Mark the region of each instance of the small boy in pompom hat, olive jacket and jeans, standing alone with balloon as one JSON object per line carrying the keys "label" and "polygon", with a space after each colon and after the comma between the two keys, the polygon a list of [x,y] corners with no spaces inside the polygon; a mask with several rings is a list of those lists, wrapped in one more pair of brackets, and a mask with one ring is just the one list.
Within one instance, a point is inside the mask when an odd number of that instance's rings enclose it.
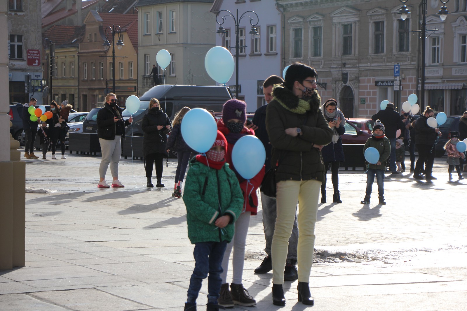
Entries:
{"label": "small boy in pompom hat, olive jacket and jeans, standing alone with balloon", "polygon": [[384,205],[384,171],[386,170],[386,159],[389,158],[391,153],[391,144],[389,138],[384,136],[384,125],[380,120],[376,120],[373,125],[373,136],[368,138],[365,146],[363,147],[363,153],[369,147],[374,147],[378,150],[380,158],[376,164],[368,163],[367,170],[367,192],[365,198],[360,202],[361,204],[370,203],[371,188],[373,187],[373,182],[375,181],[378,184],[378,195],[379,195],[379,204]]}

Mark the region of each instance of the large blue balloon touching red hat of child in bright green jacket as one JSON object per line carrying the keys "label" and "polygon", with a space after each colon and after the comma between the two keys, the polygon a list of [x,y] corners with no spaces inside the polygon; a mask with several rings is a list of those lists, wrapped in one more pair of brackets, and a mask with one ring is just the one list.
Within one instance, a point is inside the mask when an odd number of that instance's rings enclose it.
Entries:
{"label": "large blue balloon touching red hat of child in bright green jacket", "polygon": [[217,137],[217,124],[203,108],[193,108],[183,117],[182,137],[191,149],[203,153],[211,149]]}

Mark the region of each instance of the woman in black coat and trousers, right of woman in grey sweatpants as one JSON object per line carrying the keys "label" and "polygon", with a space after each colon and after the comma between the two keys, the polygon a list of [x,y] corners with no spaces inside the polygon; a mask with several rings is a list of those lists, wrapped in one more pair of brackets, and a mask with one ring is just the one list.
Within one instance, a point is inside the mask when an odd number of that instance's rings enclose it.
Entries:
{"label": "woman in black coat and trousers, right of woman in grey sweatpants", "polygon": [[167,133],[170,131],[170,119],[165,114],[159,101],[156,98],[149,102],[149,111],[143,117],[142,128],[143,136],[143,155],[146,159],[146,177],[148,184],[146,187],[154,187],[152,184],[152,167],[156,162],[156,187],[163,188],[162,169],[163,159],[168,156],[167,153]]}

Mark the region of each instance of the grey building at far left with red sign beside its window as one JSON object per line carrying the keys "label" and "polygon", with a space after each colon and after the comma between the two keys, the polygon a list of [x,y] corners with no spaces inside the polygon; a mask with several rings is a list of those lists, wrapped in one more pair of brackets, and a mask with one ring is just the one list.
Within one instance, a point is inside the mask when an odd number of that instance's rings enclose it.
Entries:
{"label": "grey building at far left with red sign beside its window", "polygon": [[42,104],[41,1],[7,1],[7,14],[9,101],[24,104],[35,97]]}

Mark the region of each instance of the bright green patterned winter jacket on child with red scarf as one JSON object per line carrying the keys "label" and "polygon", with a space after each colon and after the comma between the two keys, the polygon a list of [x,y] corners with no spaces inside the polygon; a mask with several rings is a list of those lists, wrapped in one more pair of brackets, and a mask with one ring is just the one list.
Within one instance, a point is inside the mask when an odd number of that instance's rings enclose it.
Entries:
{"label": "bright green patterned winter jacket on child with red scarf", "polygon": [[[216,170],[192,159],[186,175],[183,201],[188,238],[192,244],[232,240],[233,223],[241,214],[243,195],[228,163]],[[216,227],[214,222],[223,215],[231,215],[232,221],[225,228]]]}

